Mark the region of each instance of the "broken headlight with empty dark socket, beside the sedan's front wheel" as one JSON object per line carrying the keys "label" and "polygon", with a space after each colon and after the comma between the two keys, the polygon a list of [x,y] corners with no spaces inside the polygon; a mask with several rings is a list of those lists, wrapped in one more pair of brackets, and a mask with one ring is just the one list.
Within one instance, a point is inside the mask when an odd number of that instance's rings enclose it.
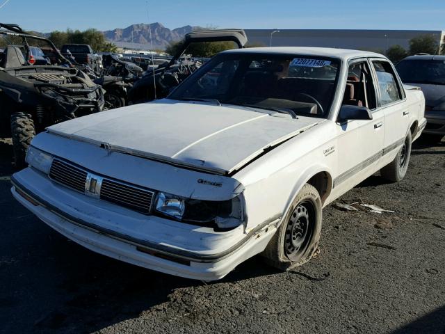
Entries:
{"label": "broken headlight with empty dark socket, beside the sedan's front wheel", "polygon": [[159,193],[156,212],[184,223],[217,226],[220,229],[236,228],[244,221],[241,195],[232,200],[195,200],[170,193]]}

